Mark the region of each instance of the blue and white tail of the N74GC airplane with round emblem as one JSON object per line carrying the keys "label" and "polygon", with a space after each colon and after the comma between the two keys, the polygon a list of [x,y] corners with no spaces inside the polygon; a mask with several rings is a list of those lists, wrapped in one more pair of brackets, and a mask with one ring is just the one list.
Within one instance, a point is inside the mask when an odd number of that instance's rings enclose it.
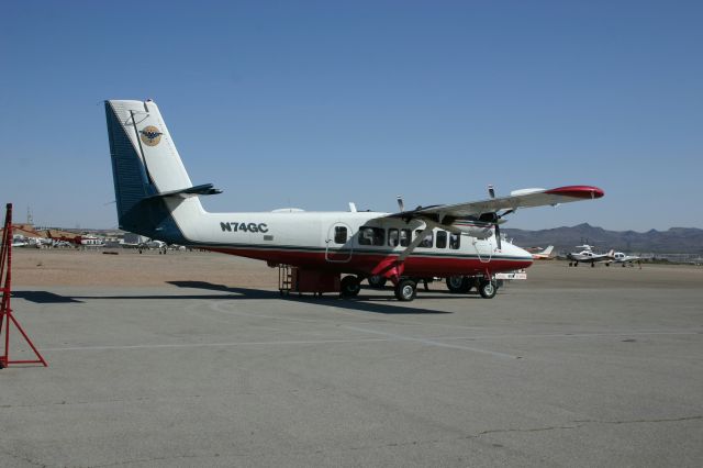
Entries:
{"label": "blue and white tail of the N74GC airplane with round emblem", "polygon": [[110,156],[120,229],[168,243],[186,244],[174,216],[202,212],[197,199],[217,193],[193,187],[153,101],[105,101]]}

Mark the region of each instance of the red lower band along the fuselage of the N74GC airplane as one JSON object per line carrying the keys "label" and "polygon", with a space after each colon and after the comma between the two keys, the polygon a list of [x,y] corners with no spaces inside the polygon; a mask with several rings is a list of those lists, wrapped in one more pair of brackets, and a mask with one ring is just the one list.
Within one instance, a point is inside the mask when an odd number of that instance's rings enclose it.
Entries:
{"label": "red lower band along the fuselage of the N74GC airplane", "polygon": [[[330,261],[324,252],[302,252],[287,249],[254,249],[246,247],[204,247],[208,250],[220,252],[222,254],[238,255],[241,257],[255,258],[272,264],[293,265],[301,268],[310,268],[327,271],[355,272],[360,275],[371,275],[372,271],[383,263],[394,261],[397,255],[358,254],[354,253],[350,258],[346,254],[334,254]],[[339,261],[349,258],[348,261]],[[404,275],[419,277],[446,277],[454,275],[476,275],[487,270],[491,274],[500,271],[512,271],[520,268],[527,268],[533,264],[532,258],[491,258],[488,256],[479,258],[466,257],[440,257],[440,256],[410,256],[404,263]]]}

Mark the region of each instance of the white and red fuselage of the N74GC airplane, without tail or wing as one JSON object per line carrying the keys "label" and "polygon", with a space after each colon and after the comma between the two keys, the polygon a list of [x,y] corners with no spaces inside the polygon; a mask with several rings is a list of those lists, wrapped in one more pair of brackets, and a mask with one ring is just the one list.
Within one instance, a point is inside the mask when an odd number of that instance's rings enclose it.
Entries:
{"label": "white and red fuselage of the N74GC airplane, without tail or wing", "polygon": [[[169,202],[186,245],[301,268],[362,276],[377,275],[394,263],[425,223],[382,218],[379,212],[247,212],[178,216]],[[480,239],[434,229],[404,259],[404,275],[446,277],[492,275],[532,265],[529,253],[507,242],[496,248],[494,237]]]}

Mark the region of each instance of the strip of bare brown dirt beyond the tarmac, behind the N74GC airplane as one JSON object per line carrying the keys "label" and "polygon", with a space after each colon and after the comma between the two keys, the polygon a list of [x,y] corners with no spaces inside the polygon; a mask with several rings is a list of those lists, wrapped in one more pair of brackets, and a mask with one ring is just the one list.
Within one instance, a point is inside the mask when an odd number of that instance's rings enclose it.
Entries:
{"label": "strip of bare brown dirt beyond the tarmac, behind the N74GC airplane", "polygon": [[[105,255],[104,252],[118,255]],[[636,272],[634,270],[637,270]],[[538,260],[528,270],[529,285],[559,288],[623,288],[656,286],[701,288],[703,267],[684,265],[620,265],[568,267],[566,261]],[[35,249],[16,248],[13,258],[15,286],[168,286],[169,281],[197,280],[220,285],[276,289],[278,270],[264,261],[209,252],[136,249]],[[444,290],[434,285],[433,289]]]}

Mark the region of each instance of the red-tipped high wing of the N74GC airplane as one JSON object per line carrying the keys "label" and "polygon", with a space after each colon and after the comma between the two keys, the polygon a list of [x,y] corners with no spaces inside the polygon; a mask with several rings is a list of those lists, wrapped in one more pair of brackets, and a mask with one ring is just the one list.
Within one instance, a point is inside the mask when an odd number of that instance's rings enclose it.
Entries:
{"label": "red-tipped high wing of the N74GC airplane", "polygon": [[417,207],[415,210],[394,213],[388,218],[429,219],[439,223],[451,219],[480,216],[483,213],[496,213],[500,210],[517,210],[518,208],[556,205],[571,201],[590,200],[603,197],[604,192],[598,187],[567,186],[556,189],[523,189],[511,192],[510,197],[491,198],[456,204],[438,204]]}

